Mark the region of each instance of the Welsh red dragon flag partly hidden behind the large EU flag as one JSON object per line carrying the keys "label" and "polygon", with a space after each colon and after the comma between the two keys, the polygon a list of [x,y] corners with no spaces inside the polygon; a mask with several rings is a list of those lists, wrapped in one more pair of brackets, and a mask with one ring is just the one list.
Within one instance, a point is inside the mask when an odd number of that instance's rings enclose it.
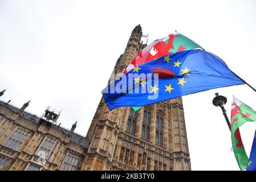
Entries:
{"label": "Welsh red dragon flag partly hidden behind the large EU flag", "polygon": [[[201,46],[199,46],[199,44],[179,33],[170,34],[165,38],[156,39],[154,42],[149,44],[138,53],[138,55],[125,69],[124,74],[131,71],[133,68],[141,64],[147,63],[148,61],[155,60],[158,57],[194,48],[203,49]],[[169,56],[167,59],[168,60],[166,61],[168,61],[168,63],[169,61],[172,61],[169,59]],[[132,108],[137,111],[141,108],[141,106]]]}

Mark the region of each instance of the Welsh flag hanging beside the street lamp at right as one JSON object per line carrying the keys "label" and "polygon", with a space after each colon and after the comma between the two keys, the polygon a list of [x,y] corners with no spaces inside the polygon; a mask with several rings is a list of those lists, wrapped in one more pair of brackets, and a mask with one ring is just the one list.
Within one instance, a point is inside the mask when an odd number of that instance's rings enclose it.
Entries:
{"label": "Welsh flag hanging beside the street lamp at right", "polygon": [[253,122],[256,120],[256,111],[251,109],[237,98],[233,97],[233,103],[231,107],[231,139],[232,147],[237,159],[238,166],[241,170],[247,168],[248,156],[243,147],[242,138],[239,132],[239,127],[247,121]]}

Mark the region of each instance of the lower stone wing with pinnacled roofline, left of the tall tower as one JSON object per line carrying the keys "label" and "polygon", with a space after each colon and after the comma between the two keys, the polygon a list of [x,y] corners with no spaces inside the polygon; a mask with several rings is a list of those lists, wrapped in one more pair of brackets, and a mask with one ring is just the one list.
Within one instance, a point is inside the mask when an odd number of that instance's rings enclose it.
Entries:
{"label": "lower stone wing with pinnacled roofline, left of the tall tower", "polygon": [[[0,94],[1,96],[1,94]],[[0,101],[0,171],[80,170],[90,140],[71,130],[53,125],[52,110],[44,117]]]}

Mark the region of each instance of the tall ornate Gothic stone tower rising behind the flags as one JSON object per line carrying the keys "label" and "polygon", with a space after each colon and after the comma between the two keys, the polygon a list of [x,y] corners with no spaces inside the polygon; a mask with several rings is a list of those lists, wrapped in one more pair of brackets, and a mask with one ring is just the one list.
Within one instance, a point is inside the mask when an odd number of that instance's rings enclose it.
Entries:
{"label": "tall ornate Gothic stone tower rising behind the flags", "polygon": [[[123,73],[139,53],[141,26],[132,30],[115,65]],[[84,170],[190,170],[182,99],[109,111],[101,98],[87,138],[91,140]]]}

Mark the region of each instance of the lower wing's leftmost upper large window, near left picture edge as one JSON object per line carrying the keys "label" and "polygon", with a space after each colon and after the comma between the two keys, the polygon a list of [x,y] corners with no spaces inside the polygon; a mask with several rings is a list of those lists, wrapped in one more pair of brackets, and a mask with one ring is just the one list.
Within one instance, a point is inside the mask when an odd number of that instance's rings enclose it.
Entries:
{"label": "lower wing's leftmost upper large window, near left picture edge", "polygon": [[26,138],[26,131],[18,128],[3,145],[13,150],[18,150]]}

